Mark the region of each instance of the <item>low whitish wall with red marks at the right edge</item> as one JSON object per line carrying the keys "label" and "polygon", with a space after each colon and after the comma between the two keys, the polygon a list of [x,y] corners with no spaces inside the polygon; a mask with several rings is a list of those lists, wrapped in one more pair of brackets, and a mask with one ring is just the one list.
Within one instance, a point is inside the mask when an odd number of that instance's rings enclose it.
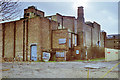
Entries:
{"label": "low whitish wall with red marks at the right edge", "polygon": [[120,50],[105,48],[105,61],[114,61],[120,59]]}

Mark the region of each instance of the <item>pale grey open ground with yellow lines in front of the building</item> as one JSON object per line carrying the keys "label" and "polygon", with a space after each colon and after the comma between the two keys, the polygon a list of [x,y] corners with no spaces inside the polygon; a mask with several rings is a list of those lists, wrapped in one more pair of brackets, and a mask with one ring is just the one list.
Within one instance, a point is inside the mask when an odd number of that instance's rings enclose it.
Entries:
{"label": "pale grey open ground with yellow lines in front of the building", "polygon": [[[4,62],[2,63],[3,78],[100,78],[118,61],[104,62]],[[99,67],[99,68],[97,68]],[[104,78],[118,78],[119,66],[114,68]]]}

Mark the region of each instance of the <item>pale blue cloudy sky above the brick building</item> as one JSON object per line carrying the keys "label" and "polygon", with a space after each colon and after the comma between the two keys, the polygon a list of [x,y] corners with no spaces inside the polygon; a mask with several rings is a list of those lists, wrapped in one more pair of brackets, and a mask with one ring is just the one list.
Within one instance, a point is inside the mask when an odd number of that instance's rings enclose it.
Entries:
{"label": "pale blue cloudy sky above the brick building", "polygon": [[[36,6],[45,16],[60,13],[77,17],[77,7],[84,7],[85,21],[95,21],[107,34],[118,33],[118,2],[22,2],[22,9]],[[23,14],[22,14],[23,15]]]}

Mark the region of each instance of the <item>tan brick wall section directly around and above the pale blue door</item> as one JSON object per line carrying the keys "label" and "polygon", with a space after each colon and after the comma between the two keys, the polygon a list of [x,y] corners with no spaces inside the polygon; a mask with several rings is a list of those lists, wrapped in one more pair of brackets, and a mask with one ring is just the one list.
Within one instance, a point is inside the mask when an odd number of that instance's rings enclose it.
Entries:
{"label": "tan brick wall section directly around and above the pale blue door", "polygon": [[30,56],[30,46],[33,44],[37,45],[37,56],[41,55],[41,22],[40,18],[32,18],[28,21],[28,55]]}

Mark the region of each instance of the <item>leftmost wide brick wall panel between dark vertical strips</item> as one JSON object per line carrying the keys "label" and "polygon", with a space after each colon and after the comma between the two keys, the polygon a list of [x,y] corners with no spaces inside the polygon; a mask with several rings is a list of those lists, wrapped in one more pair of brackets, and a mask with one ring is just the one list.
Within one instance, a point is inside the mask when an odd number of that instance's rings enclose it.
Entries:
{"label": "leftmost wide brick wall panel between dark vertical strips", "polygon": [[4,45],[4,57],[5,58],[13,58],[13,50],[14,50],[14,24],[12,22],[5,24],[5,45]]}

